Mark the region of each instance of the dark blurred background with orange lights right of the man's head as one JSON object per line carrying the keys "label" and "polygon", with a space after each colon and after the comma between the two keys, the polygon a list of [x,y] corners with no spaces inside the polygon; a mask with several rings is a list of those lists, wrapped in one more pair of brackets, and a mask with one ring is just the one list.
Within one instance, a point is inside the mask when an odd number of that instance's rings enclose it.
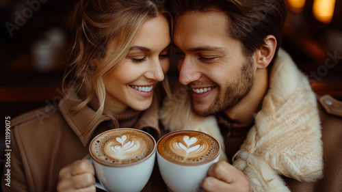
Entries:
{"label": "dark blurred background with orange lights right of the man's head", "polygon": [[317,94],[342,100],[342,1],[286,0],[282,47]]}

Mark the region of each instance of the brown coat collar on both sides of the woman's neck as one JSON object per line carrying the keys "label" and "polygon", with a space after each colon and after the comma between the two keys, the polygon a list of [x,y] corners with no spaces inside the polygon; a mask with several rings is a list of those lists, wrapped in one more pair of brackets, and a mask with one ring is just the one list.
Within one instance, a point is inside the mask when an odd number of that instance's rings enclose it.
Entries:
{"label": "brown coat collar on both sides of the woman's neck", "polygon": [[[64,119],[70,128],[73,129],[77,137],[79,137],[79,140],[83,146],[88,145],[92,134],[101,123],[109,121],[113,128],[119,127],[119,123],[116,118],[109,115],[101,115],[101,118],[97,120],[96,124],[87,130],[89,124],[88,121],[94,117],[96,111],[88,107],[88,105],[83,107],[77,113],[70,111],[70,109],[73,109],[73,107],[79,105],[80,103],[81,99],[77,96],[77,94],[75,94],[75,92],[69,91],[66,93],[64,98],[60,100],[59,107]],[[134,128],[144,129],[144,131],[151,133],[153,137],[158,137],[160,131],[158,126],[157,100],[154,99],[152,105],[146,111],[142,112],[142,115],[135,123]]]}

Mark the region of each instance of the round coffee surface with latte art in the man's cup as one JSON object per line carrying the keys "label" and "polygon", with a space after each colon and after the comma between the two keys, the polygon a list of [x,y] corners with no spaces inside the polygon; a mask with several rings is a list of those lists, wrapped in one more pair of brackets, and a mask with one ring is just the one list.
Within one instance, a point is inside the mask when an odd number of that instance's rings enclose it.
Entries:
{"label": "round coffee surface with latte art in the man's cup", "polygon": [[220,154],[220,144],[210,135],[181,131],[160,139],[157,150],[164,159],[178,164],[202,164]]}

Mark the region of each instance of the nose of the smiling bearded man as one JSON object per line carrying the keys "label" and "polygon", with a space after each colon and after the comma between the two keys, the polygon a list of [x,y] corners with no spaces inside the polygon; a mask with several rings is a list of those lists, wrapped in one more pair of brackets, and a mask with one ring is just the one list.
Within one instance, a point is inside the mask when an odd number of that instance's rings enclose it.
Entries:
{"label": "nose of the smiling bearded man", "polygon": [[185,57],[179,61],[179,82],[183,85],[192,83],[200,79],[200,72],[198,66],[194,64],[191,58]]}

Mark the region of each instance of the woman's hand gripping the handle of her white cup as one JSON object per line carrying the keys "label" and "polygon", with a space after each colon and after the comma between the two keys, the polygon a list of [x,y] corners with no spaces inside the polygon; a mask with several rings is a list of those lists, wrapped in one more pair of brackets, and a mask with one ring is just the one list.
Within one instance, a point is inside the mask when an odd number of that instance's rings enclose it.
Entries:
{"label": "woman's hand gripping the handle of her white cup", "polygon": [[88,161],[75,161],[60,170],[57,191],[95,192],[95,170]]}

